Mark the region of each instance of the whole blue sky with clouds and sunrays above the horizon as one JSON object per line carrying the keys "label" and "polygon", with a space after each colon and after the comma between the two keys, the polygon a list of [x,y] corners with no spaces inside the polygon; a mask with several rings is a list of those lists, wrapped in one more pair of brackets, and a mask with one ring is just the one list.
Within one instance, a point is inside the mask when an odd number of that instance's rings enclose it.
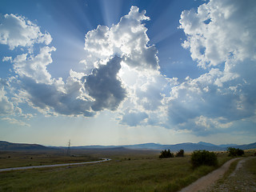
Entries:
{"label": "whole blue sky with clouds and sunrays above the horizon", "polygon": [[256,142],[256,1],[2,0],[0,140]]}

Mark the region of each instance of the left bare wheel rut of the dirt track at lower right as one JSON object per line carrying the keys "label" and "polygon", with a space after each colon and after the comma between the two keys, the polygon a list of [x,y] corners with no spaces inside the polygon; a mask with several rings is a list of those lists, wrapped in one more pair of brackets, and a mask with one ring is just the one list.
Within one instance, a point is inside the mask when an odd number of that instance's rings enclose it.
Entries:
{"label": "left bare wheel rut of the dirt track at lower right", "polygon": [[229,169],[230,164],[239,158],[233,158],[230,161],[226,162],[223,166],[218,168],[218,170],[214,170],[210,174],[199,178],[196,182],[193,182],[190,186],[186,186],[180,192],[197,192],[200,190],[206,190],[208,186],[212,183],[216,182],[218,179],[222,178],[225,174],[226,170]]}

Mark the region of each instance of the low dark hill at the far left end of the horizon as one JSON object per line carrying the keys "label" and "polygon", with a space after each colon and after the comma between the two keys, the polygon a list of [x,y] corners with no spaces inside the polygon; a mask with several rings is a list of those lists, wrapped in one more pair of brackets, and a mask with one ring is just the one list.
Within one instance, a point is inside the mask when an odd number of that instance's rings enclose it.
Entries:
{"label": "low dark hill at the far left end of the horizon", "polygon": [[49,150],[49,147],[38,144],[25,144],[0,141],[0,150]]}

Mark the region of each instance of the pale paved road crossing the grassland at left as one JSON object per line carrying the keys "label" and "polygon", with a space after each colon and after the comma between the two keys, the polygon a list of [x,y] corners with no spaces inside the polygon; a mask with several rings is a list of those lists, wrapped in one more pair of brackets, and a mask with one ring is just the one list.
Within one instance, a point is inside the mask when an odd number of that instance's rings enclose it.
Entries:
{"label": "pale paved road crossing the grassland at left", "polygon": [[22,167],[5,168],[5,169],[0,169],[0,172],[10,171],[10,170],[29,170],[29,169],[38,169],[38,168],[48,168],[48,167],[56,167],[56,166],[78,166],[83,164],[94,164],[99,162],[111,161],[110,158],[102,158],[102,159],[103,160],[99,160],[95,162],[74,162],[74,163],[64,163],[64,164],[55,164],[55,165],[46,165],[46,166],[22,166]]}

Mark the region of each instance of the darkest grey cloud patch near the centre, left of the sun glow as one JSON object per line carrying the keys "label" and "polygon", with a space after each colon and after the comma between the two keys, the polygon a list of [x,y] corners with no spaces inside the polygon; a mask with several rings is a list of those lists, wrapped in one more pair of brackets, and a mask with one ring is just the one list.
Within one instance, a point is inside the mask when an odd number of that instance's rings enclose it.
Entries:
{"label": "darkest grey cloud patch near the centre, left of the sun glow", "polygon": [[120,102],[126,98],[126,90],[117,77],[121,61],[122,58],[115,56],[106,65],[95,68],[92,74],[86,77],[86,90],[95,99],[91,106],[94,111],[116,110]]}

